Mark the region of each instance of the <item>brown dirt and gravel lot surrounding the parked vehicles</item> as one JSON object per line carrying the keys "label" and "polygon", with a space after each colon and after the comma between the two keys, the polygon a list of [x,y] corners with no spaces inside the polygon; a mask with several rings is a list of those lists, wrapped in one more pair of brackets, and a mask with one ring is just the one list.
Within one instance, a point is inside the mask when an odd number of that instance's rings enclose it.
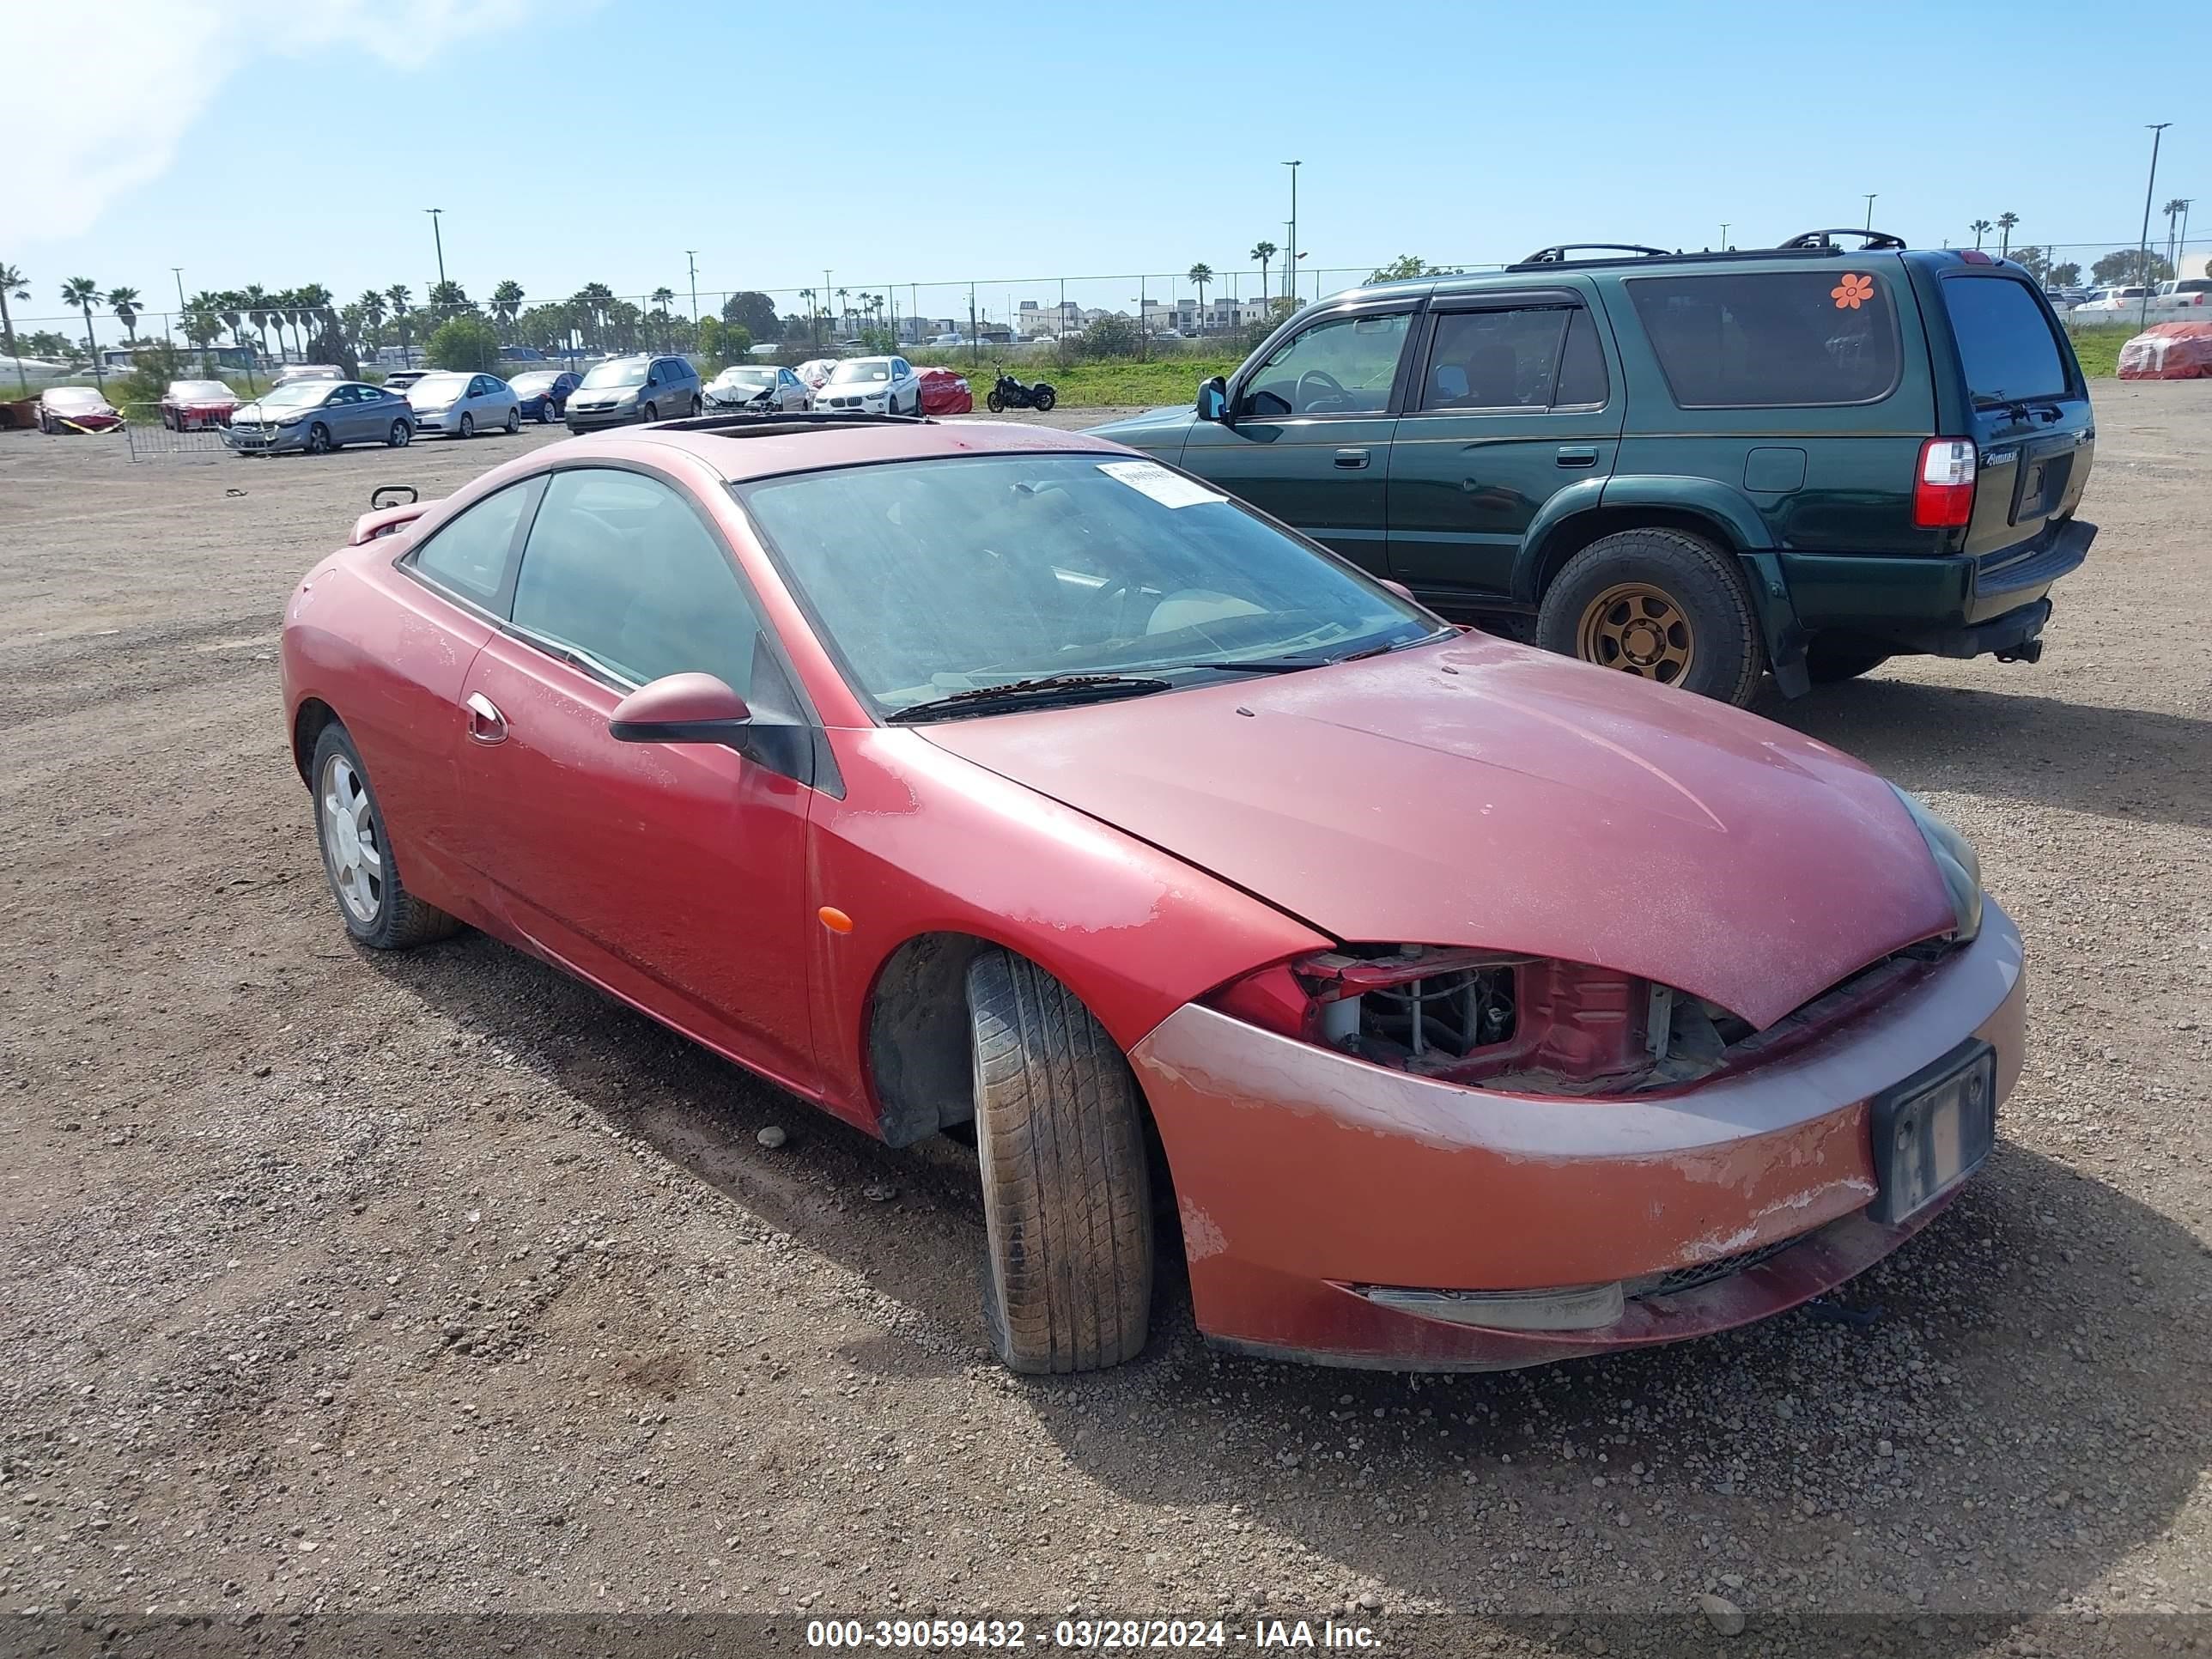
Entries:
{"label": "brown dirt and gravel lot surrounding the parked vehicles", "polygon": [[1217,1356],[1166,1285],[1146,1358],[1073,1383],[980,1347],[958,1148],[887,1152],[491,940],[347,945],[283,595],[372,484],[542,436],[0,434],[0,1650],[478,1608],[1234,1648],[1256,1606],[1407,1655],[1719,1648],[1699,1595],[1734,1650],[2212,1648],[2212,385],[2106,385],[2099,425],[2039,668],[1767,708],[1929,792],[2031,951],[1997,1159],[1863,1318],[1409,1378]]}

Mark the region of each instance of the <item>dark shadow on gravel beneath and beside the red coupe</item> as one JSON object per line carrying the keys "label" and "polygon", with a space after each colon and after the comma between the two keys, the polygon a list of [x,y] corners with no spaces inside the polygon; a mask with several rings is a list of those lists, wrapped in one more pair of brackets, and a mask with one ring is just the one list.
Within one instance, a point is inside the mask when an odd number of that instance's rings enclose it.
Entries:
{"label": "dark shadow on gravel beneath and beside the red coupe", "polygon": [[[984,1363],[964,1148],[885,1148],[484,938],[365,960],[653,1144],[732,1223],[865,1281],[889,1312],[843,1358],[885,1378]],[[1347,1586],[1502,1619],[1601,1606],[1610,1621],[1515,1630],[1619,1652],[1639,1608],[1681,1613],[1688,1577],[1818,1652],[1905,1637],[1922,1610],[2062,1608],[2166,1533],[2212,1464],[2205,1272],[2185,1228],[2004,1144],[1840,1303],[1701,1343],[1500,1376],[1279,1365],[1206,1347],[1166,1265],[1141,1360],[1013,1387],[1084,1480],[1296,1540]],[[1989,1635],[1938,1617],[1913,1650]]]}

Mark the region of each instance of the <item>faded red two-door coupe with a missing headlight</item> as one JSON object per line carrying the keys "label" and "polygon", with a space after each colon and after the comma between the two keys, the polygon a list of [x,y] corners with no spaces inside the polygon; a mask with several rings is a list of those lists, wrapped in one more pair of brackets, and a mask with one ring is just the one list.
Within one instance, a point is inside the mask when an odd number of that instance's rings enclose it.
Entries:
{"label": "faded red two-door coupe with a missing headlight", "polygon": [[1037,427],[690,420],[365,515],[285,739],[338,918],[480,927],[894,1146],[984,1327],[1495,1369],[1774,1314],[1975,1172],[2020,936],[1865,765],[1460,633]]}

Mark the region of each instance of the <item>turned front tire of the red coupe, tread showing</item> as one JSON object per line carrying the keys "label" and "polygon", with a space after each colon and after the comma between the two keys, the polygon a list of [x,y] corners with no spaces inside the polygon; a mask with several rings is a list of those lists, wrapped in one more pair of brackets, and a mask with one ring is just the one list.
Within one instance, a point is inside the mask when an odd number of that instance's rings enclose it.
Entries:
{"label": "turned front tire of the red coupe, tread showing", "polygon": [[1011,1371],[1135,1358],[1152,1316],[1152,1192],[1137,1079],[1060,980],[969,964],[984,1329]]}

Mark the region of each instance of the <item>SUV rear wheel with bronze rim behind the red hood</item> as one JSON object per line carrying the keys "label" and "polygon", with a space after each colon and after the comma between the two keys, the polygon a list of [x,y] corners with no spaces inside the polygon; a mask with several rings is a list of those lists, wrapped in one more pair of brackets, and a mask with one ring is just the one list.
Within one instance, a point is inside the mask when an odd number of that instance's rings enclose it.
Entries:
{"label": "SUV rear wheel with bronze rim behind the red hood", "polygon": [[1535,641],[1743,708],[1765,650],[1736,562],[1683,531],[1601,535],[1544,591]]}

